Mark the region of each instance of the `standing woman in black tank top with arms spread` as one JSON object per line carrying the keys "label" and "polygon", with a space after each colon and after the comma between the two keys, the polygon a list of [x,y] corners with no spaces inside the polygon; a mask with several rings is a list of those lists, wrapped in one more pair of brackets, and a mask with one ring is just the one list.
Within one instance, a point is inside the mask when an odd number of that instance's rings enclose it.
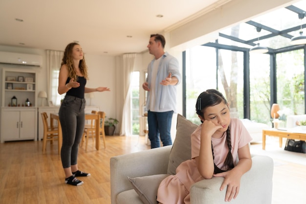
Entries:
{"label": "standing woman in black tank top with arms spread", "polygon": [[66,93],[60,107],[59,117],[63,132],[61,159],[65,171],[65,182],[82,185],[75,177],[90,176],[78,168],[78,150],[85,126],[84,94],[93,91],[110,91],[107,87],[95,89],[85,87],[88,79],[87,66],[82,47],[77,43],[66,46],[59,74],[59,94]]}

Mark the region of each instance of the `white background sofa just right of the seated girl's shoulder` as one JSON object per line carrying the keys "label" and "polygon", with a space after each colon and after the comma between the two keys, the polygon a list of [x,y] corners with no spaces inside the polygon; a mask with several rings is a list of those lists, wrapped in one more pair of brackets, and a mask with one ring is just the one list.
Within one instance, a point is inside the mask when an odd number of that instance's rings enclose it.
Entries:
{"label": "white background sofa just right of the seated girl's shoulder", "polygon": [[240,120],[242,121],[244,127],[247,129],[247,131],[253,138],[251,143],[262,141],[262,130],[271,128],[267,124],[254,122],[247,118]]}

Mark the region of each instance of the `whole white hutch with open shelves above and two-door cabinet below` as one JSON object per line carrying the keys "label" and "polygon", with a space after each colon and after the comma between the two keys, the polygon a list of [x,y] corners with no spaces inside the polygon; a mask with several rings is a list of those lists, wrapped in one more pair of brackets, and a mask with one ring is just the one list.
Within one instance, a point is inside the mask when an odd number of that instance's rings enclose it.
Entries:
{"label": "whole white hutch with open shelves above and two-door cabinet below", "polygon": [[[36,70],[2,69],[1,142],[37,139],[36,86]],[[13,96],[16,106],[11,104]]]}

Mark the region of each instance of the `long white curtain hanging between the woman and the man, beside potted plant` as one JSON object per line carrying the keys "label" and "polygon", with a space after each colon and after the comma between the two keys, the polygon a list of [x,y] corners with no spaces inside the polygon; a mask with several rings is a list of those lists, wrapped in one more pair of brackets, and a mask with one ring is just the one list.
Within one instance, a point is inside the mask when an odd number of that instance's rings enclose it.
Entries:
{"label": "long white curtain hanging between the woman and the man, beside potted plant", "polygon": [[130,85],[131,78],[134,69],[136,53],[124,54],[123,55],[123,91],[125,95],[123,112],[122,112],[122,123],[121,123],[121,136],[131,136],[131,94]]}

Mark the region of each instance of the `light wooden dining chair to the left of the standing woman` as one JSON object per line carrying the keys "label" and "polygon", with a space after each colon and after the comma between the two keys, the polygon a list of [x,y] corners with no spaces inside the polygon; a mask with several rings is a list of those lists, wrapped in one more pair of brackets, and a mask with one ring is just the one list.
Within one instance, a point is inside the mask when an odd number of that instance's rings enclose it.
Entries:
{"label": "light wooden dining chair to the left of the standing woman", "polygon": [[[48,125],[48,115],[47,113],[43,112],[41,113],[42,119],[43,119],[43,124],[44,124],[44,137],[43,137],[43,154],[45,153],[46,150],[46,144],[47,141],[50,141],[50,144],[53,144],[53,141],[55,139],[58,140],[58,128],[57,127],[50,127]],[[59,144],[59,150],[60,150],[60,144]]]}

